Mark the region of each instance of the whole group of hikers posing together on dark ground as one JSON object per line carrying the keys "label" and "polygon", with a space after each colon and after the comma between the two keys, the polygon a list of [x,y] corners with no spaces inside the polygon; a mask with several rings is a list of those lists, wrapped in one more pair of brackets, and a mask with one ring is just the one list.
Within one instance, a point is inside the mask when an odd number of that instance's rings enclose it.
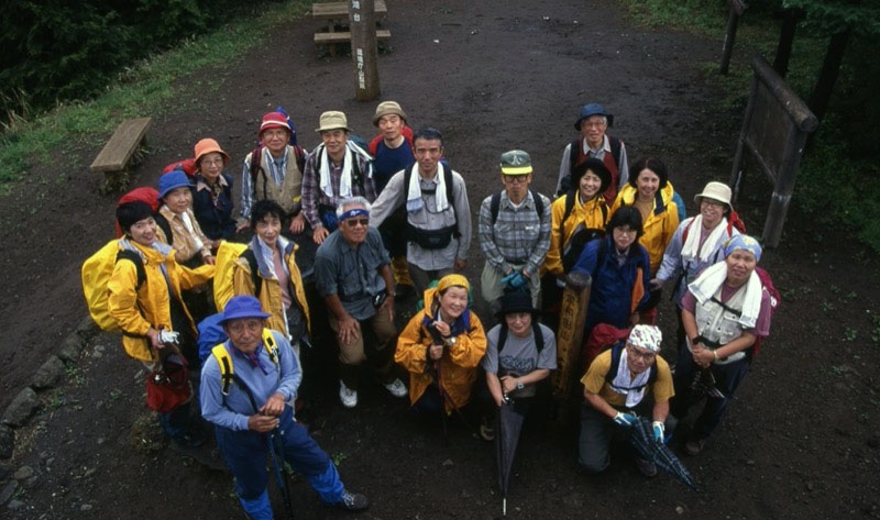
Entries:
{"label": "whole group of hikers posing together on dark ground", "polygon": [[[705,398],[683,443],[698,454],[772,310],[756,270],[761,246],[740,233],[729,187],[708,182],[694,197],[698,213],[685,218],[666,165],[646,157],[630,167],[624,142],[606,133],[613,115],[597,103],[580,110],[552,198],[530,188],[528,153],[501,154],[503,189],[476,218],[479,290],[492,314],[484,319],[497,322],[486,331],[472,310],[476,288],[462,275],[474,234],[465,178],[450,166],[441,133],[413,132],[407,120],[397,102],[380,103],[378,135],[365,143],[344,113],[323,112],[321,143],[307,153],[283,109],[266,113],[244,158],[238,214],[230,156],[212,139],[169,165],[157,190],[120,199],[107,313],[125,352],[151,370],[147,398],[161,401],[150,403],[172,445],[205,461],[212,429],[250,518],[272,518],[265,461],[276,452],[323,501],[364,509],[366,497],[344,487],[294,417],[300,348],[327,330],[316,305],[339,346],[344,407],[358,406],[366,365],[393,396],[408,395],[415,412],[470,413],[492,440],[502,407],[527,410],[547,398],[541,381],[557,369],[557,344],[546,323],[559,313],[566,276],[583,273],[592,285],[578,325],[586,345],[600,346],[581,359],[581,467],[605,469],[612,439],[640,417],[667,442],[673,416],[684,419]],[[252,239],[237,243],[246,230]],[[317,247],[314,258],[300,246]],[[664,285],[679,322],[674,376],[654,324]],[[408,290],[421,308],[398,331],[395,299]],[[194,395],[168,389],[188,388],[174,385],[182,368],[195,375]],[[169,402],[175,391],[183,395]],[[657,474],[651,461],[636,462]]]}

